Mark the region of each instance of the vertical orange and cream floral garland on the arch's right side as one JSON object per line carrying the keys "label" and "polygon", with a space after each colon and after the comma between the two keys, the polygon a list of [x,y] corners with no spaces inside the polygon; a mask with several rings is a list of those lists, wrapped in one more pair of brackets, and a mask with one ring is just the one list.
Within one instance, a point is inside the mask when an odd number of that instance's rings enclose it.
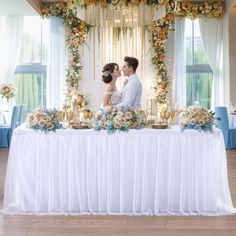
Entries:
{"label": "vertical orange and cream floral garland on the arch's right side", "polygon": [[174,12],[175,1],[168,1],[166,16],[153,22],[152,45],[154,48],[154,56],[152,63],[157,69],[156,81],[154,82],[153,88],[158,104],[165,104],[168,101],[170,80],[165,65],[165,43],[168,39],[171,26],[174,23]]}

